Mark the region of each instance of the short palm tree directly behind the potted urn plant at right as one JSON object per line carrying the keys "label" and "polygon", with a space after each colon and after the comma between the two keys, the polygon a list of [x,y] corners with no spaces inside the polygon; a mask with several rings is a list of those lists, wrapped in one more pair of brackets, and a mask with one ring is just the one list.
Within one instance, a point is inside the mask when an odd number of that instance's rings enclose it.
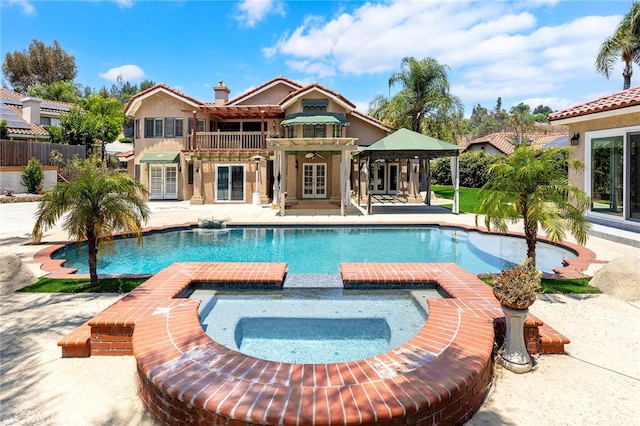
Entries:
{"label": "short palm tree directly behind the potted urn plant at right", "polygon": [[583,164],[569,160],[567,148],[516,148],[502,162],[489,166],[489,180],[482,187],[482,201],[476,211],[485,215],[485,226],[507,232],[507,222],[524,221],[527,258],[535,265],[538,228],[552,242],[562,241],[568,230],[583,245],[589,225],[584,212],[589,197],[573,186],[567,169]]}

